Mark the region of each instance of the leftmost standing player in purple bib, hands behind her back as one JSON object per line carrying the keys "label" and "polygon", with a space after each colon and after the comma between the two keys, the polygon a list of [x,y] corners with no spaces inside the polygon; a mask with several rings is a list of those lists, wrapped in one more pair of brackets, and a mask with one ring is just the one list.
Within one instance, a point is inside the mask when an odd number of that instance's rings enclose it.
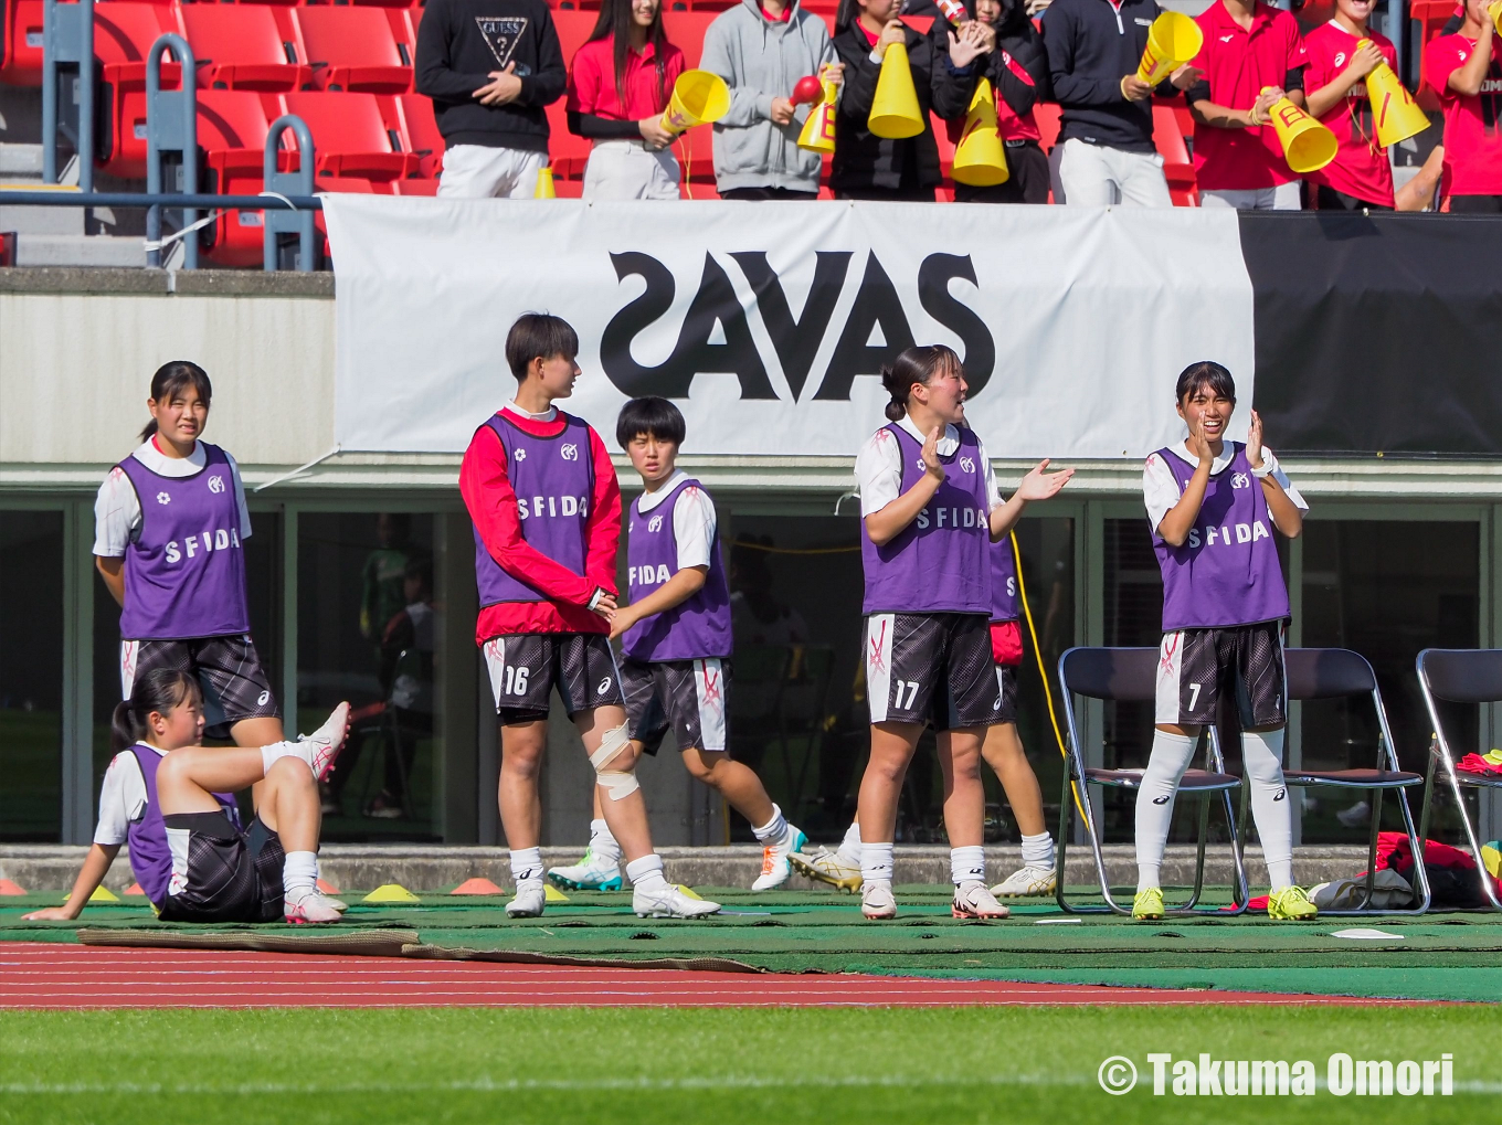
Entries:
{"label": "leftmost standing player in purple bib, hands behind her back", "polygon": [[281,709],[251,641],[234,458],[201,440],[213,388],[197,363],[152,376],[140,448],[95,502],[95,565],[120,604],[120,694],[153,668],[192,673],[206,734],[240,746],[282,740]]}

